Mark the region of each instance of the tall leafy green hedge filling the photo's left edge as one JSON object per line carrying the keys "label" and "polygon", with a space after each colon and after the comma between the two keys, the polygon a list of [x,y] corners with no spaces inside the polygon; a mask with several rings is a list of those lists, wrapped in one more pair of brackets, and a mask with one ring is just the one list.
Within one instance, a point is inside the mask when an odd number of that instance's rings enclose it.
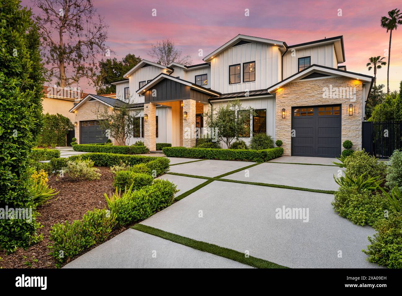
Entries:
{"label": "tall leafy green hedge filling the photo's left edge", "polygon": [[[18,0],[0,4],[0,205],[29,208],[29,154],[41,130],[43,74],[39,28]],[[13,252],[38,242],[33,219],[0,219],[0,249]]]}

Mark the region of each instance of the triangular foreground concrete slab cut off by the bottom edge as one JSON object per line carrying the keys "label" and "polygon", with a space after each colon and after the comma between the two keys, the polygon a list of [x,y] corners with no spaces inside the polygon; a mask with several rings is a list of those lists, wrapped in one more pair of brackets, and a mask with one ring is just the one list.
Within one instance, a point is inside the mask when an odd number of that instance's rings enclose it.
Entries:
{"label": "triangular foreground concrete slab cut off by the bottom edge", "polygon": [[64,268],[252,267],[129,228]]}

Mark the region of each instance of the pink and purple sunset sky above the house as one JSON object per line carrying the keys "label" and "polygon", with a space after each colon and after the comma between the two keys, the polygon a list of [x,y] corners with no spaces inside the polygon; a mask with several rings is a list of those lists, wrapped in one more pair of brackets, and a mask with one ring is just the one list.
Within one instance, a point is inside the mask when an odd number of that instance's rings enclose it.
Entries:
{"label": "pink and purple sunset sky above the house", "polygon": [[[389,33],[380,19],[389,10],[402,10],[400,0],[282,0],[279,1],[123,1],[93,0],[109,25],[107,45],[118,59],[131,53],[149,59],[151,43],[171,38],[193,64],[237,34],[285,41],[288,45],[343,35],[347,70],[373,75],[365,64],[371,56],[384,56]],[[32,6],[29,0],[22,5]],[[152,17],[152,9],[156,17]],[[244,16],[248,8],[250,16]],[[342,17],[338,17],[342,9]],[[36,11],[33,9],[34,12]],[[114,54],[111,55],[114,57]],[[388,61],[388,57],[386,57]],[[392,33],[390,89],[402,80],[402,26]],[[377,73],[377,84],[386,85],[387,69]],[[86,81],[80,85],[93,92]],[[386,90],[386,89],[385,89]]]}

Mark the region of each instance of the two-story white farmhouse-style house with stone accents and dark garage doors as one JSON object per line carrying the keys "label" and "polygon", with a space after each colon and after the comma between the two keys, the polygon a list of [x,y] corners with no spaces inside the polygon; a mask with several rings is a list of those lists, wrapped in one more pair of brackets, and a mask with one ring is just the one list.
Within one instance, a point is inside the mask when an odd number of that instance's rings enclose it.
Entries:
{"label": "two-story white farmhouse-style house with stone accents and dark garage doors", "polygon": [[342,36],[288,46],[237,35],[203,61],[185,66],[142,60],[114,82],[116,99],[88,95],[70,110],[79,143],[104,141],[90,115],[94,108],[128,104],[141,112],[129,144],[144,141],[151,151],[156,143],[193,147],[196,140],[186,131],[203,127],[204,112],[240,99],[254,109],[250,130],[241,135],[246,142],[266,132],[283,141],[285,155],[298,156],[338,156],[345,140],[361,148],[373,77],[339,65],[345,62]]}

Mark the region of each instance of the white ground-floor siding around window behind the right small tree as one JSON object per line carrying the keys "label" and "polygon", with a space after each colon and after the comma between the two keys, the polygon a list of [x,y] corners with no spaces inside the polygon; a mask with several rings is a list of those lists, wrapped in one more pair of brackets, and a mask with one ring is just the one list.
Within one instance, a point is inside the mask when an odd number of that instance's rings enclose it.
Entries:
{"label": "white ground-floor siding around window behind the right small tree", "polygon": [[[249,99],[242,99],[242,106],[244,108],[251,107],[254,110],[266,109],[267,110],[267,134],[270,135],[275,141],[275,99],[272,97],[250,97]],[[213,108],[217,108],[219,105],[226,106],[227,101],[214,101],[212,102]],[[252,119],[250,120],[250,137],[240,138],[247,145],[250,144],[250,139],[252,138]],[[223,148],[226,148],[225,143],[221,143]]]}

